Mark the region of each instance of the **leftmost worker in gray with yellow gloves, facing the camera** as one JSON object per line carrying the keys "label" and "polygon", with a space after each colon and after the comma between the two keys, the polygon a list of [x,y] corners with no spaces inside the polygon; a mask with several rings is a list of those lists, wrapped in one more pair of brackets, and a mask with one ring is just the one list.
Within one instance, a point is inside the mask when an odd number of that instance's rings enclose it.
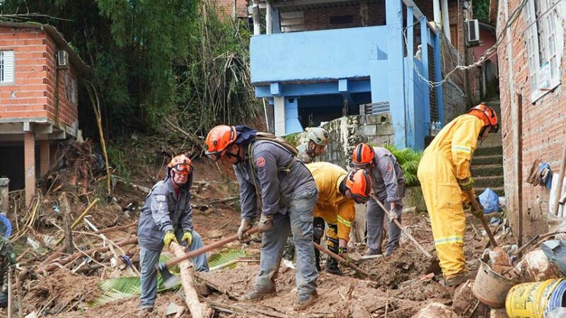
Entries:
{"label": "leftmost worker in gray with yellow gloves, facing the camera", "polygon": [[[192,228],[190,186],[192,163],[185,155],[178,155],[167,166],[165,179],[157,182],[141,208],[137,229],[139,264],[141,266],[141,309],[151,312],[157,298],[157,271],[161,250],[171,242],[202,247],[200,235]],[[206,254],[191,259],[197,271],[208,271]]]}

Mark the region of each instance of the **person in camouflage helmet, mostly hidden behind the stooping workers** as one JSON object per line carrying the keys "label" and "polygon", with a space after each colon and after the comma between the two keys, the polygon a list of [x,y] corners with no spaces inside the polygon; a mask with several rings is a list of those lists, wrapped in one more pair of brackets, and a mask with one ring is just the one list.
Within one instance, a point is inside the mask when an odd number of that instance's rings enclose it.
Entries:
{"label": "person in camouflage helmet, mostly hidden behind the stooping workers", "polygon": [[[328,131],[326,131],[326,129],[322,127],[312,127],[306,131],[306,138],[308,139],[308,141],[306,143],[301,143],[299,147],[297,147],[297,151],[299,151],[297,158],[299,158],[299,160],[301,160],[303,163],[312,163],[316,156],[325,153],[326,145],[328,145],[328,140],[330,138],[330,135],[328,134]],[[324,219],[317,218],[315,216],[315,219],[313,221],[315,230],[317,228],[320,228],[321,224],[322,227],[324,228]],[[316,240],[317,233],[315,232],[314,235]],[[319,241],[320,241],[320,237],[318,238]],[[315,253],[316,253],[316,269],[320,271],[318,249],[315,250]],[[295,247],[293,245],[293,235],[291,234],[289,235],[289,237],[287,237],[287,244],[285,245],[285,252],[283,254],[283,257],[288,261],[292,261],[294,258],[294,254],[295,254]]]}

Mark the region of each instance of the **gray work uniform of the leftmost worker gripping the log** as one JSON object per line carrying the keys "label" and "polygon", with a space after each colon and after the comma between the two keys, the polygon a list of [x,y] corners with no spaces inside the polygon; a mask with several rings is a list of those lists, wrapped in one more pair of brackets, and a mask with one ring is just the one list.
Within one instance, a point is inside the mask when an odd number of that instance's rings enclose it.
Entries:
{"label": "gray work uniform of the leftmost worker gripping the log", "polygon": [[[192,208],[190,206],[190,183],[179,190],[173,188],[170,178],[157,182],[146,197],[141,208],[137,228],[139,242],[139,264],[141,266],[141,306],[153,306],[157,297],[157,271],[155,265],[159,261],[163,249],[163,237],[168,230],[174,230],[180,245],[183,232],[192,232],[190,250],[203,247],[200,235],[192,228]],[[197,271],[208,271],[206,254],[191,259]]]}

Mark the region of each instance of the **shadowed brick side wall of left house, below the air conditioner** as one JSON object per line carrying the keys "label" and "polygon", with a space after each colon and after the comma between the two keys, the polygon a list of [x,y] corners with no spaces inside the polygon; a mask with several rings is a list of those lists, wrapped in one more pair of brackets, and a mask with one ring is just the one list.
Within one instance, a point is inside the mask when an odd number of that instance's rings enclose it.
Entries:
{"label": "shadowed brick side wall of left house, below the air conditioner", "polygon": [[[59,102],[55,105],[55,71],[57,65],[57,49],[51,38],[47,40],[47,112],[51,119],[57,119],[59,124],[71,126],[79,119],[76,104],[71,102],[71,79],[76,81],[74,68],[57,70],[59,78]],[[77,83],[78,87],[79,83]]]}

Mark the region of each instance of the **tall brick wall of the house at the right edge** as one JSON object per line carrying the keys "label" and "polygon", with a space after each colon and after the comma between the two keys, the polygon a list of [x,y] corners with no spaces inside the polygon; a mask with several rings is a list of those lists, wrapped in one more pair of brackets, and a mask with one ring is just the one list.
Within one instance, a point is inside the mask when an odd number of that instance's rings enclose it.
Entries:
{"label": "tall brick wall of the house at the right edge", "polygon": [[[509,12],[519,4],[519,0],[509,0]],[[497,19],[498,30],[506,20],[503,14],[504,3],[499,4],[499,17]],[[564,17],[558,22],[557,28],[565,28]],[[524,30],[524,14],[519,16],[512,30]],[[564,39],[566,42],[566,39]],[[502,136],[503,136],[503,158],[505,194],[507,195],[507,206],[512,211],[510,223],[517,235],[518,225],[518,197],[516,184],[516,100],[517,94],[522,95],[522,137],[523,165],[521,170],[525,178],[529,167],[536,159],[541,159],[550,164],[554,172],[559,171],[560,153],[566,144],[566,51],[562,52],[560,61],[560,72],[562,84],[553,92],[547,93],[542,98],[531,103],[531,90],[529,86],[529,64],[527,61],[527,48],[524,42],[524,33],[512,32],[511,52],[507,51],[507,40],[497,51],[499,59],[499,88],[501,95],[502,111]],[[512,59],[512,72],[509,74],[509,58]],[[512,87],[513,88],[512,88]],[[514,90],[514,92],[512,91]],[[512,95],[514,94],[514,95]],[[522,181],[521,181],[522,182]],[[536,234],[548,231],[547,211],[550,191],[542,187],[533,187],[531,184],[522,182],[523,185],[523,220],[524,238],[523,242],[529,240]]]}

